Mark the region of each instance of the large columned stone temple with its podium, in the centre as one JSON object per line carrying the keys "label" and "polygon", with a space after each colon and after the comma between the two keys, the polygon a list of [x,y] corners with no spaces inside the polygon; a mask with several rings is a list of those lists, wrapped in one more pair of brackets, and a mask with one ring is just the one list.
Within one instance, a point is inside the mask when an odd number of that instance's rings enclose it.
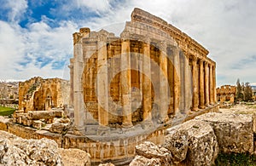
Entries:
{"label": "large columned stone temple with its podium, in the centre", "polygon": [[69,106],[76,128],[93,141],[84,145],[92,162],[127,162],[139,142],[162,142],[167,126],[217,111],[216,64],[207,54],[142,9],[133,10],[119,36],[75,32]]}

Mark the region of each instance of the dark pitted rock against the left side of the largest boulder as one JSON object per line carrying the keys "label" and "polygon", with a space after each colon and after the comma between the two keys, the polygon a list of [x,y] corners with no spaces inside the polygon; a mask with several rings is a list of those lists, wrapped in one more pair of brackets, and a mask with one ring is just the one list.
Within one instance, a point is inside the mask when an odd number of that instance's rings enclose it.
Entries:
{"label": "dark pitted rock against the left side of the largest boulder", "polygon": [[186,158],[189,148],[188,131],[173,130],[169,135],[166,135],[166,141],[161,146],[171,152],[173,163],[182,162]]}

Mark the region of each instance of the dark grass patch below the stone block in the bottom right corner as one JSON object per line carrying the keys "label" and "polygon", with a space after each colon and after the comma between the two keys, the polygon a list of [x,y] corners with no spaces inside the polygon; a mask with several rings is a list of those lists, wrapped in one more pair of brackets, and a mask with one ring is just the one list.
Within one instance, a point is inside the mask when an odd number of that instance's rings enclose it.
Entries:
{"label": "dark grass patch below the stone block in the bottom right corner", "polygon": [[218,154],[215,160],[217,166],[256,166],[256,156],[247,153]]}

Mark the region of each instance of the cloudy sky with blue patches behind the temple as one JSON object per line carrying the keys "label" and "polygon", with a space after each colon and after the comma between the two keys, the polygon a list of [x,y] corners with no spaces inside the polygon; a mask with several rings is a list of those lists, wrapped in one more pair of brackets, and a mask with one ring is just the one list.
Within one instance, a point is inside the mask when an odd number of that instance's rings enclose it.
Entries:
{"label": "cloudy sky with blue patches behind the temple", "polygon": [[[131,20],[137,7],[189,34],[217,62],[217,84],[256,83],[254,0],[0,0],[0,80],[68,77],[73,37]],[[123,24],[121,24],[123,25]],[[117,34],[119,35],[119,34]]]}

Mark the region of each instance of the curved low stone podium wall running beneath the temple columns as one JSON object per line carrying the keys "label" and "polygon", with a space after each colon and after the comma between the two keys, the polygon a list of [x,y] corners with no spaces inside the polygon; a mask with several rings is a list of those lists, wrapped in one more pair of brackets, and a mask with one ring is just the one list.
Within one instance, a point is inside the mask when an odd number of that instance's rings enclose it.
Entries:
{"label": "curved low stone podium wall running beneath the temple columns", "polygon": [[129,137],[116,135],[105,137],[81,136],[81,135],[61,135],[51,133],[43,129],[32,129],[17,123],[11,123],[5,118],[0,118],[0,130],[8,131],[11,134],[20,136],[24,139],[47,138],[55,140],[57,145],[62,148],[78,148],[90,153],[92,163],[102,163],[112,161],[115,164],[129,163],[135,154],[135,146],[145,140],[150,140],[155,144],[164,141],[165,129],[158,129],[151,134],[138,132]]}

